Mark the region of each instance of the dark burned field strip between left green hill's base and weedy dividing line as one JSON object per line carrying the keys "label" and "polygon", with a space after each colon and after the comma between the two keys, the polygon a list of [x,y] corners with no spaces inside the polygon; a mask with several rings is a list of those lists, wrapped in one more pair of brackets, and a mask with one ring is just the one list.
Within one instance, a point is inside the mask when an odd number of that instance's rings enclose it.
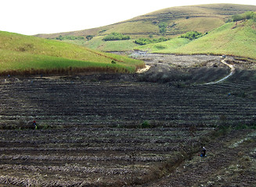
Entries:
{"label": "dark burned field strip between left green hill's base and weedy dividing line", "polygon": [[[17,129],[35,119],[52,128],[136,127],[144,121],[164,127],[215,127],[221,115],[232,124],[250,123],[255,105],[251,98],[240,97],[238,91],[253,84],[179,87],[25,79],[2,84],[0,125],[3,129]],[[229,97],[229,93],[238,96]]]}

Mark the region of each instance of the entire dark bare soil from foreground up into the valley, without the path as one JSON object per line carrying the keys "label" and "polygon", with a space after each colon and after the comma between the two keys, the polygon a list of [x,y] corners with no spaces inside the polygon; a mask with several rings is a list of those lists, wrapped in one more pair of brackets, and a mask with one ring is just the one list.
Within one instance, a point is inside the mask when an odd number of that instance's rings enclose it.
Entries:
{"label": "entire dark bare soil from foreground up into the valley, without the path", "polygon": [[137,58],[150,70],[0,79],[0,186],[253,186],[253,65],[207,85],[220,57]]}

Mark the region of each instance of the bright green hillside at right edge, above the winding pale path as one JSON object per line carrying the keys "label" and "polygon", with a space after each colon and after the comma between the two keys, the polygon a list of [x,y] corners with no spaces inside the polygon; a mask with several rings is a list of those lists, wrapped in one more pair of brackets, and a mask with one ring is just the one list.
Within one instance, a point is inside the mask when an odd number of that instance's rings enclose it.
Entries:
{"label": "bright green hillside at right edge, above the winding pale path", "polygon": [[[250,19],[240,22],[225,23],[209,34],[186,44],[181,44],[178,48],[171,44],[176,41],[185,40],[177,38],[171,41],[142,46],[138,49],[157,53],[175,54],[213,54],[213,55],[233,55],[245,58],[256,59],[256,23]],[[165,46],[165,48],[157,48]]]}

